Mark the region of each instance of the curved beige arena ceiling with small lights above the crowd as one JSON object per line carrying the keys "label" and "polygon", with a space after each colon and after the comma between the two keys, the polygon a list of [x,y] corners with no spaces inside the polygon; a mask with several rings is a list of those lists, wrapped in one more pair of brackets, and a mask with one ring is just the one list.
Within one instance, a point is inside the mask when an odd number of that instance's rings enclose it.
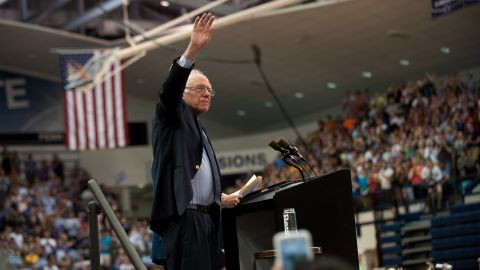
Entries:
{"label": "curved beige arena ceiling with small lights above the crowd", "polygon": [[[217,91],[207,128],[221,138],[288,126],[252,61],[252,44],[296,124],[338,108],[347,89],[384,91],[390,82],[420,79],[426,71],[445,75],[479,66],[480,5],[435,19],[430,10],[427,0],[310,1],[216,30],[196,65]],[[219,11],[229,12],[231,6]],[[121,44],[14,20],[0,20],[0,33],[0,70],[57,81],[52,48]],[[128,93],[155,99],[186,44],[158,48],[128,67]]]}

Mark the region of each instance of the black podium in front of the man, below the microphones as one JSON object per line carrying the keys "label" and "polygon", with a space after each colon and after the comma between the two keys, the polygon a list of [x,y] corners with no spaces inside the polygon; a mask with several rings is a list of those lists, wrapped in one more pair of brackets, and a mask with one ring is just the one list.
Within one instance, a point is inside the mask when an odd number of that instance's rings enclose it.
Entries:
{"label": "black podium in front of the man, below the microphones", "polygon": [[[344,169],[306,182],[283,182],[223,209],[227,270],[251,269],[255,252],[273,249],[273,235],[283,231],[284,208],[295,208],[298,229],[310,231],[323,256],[358,269],[352,185],[350,171]],[[271,264],[261,262],[257,269],[270,270]]]}

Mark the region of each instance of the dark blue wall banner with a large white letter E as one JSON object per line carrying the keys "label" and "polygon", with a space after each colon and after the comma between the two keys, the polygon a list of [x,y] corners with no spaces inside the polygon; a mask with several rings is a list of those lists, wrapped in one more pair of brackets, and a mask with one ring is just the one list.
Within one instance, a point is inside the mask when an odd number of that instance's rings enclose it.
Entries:
{"label": "dark blue wall banner with a large white letter E", "polygon": [[60,83],[0,71],[0,133],[63,132]]}

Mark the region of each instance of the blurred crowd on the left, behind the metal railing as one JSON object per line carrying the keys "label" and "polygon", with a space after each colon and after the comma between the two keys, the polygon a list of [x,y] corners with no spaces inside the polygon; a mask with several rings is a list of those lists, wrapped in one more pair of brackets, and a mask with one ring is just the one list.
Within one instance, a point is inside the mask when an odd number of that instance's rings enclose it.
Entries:
{"label": "blurred crowd on the left, behind the metal railing", "polygon": [[[85,171],[65,173],[64,162],[21,160],[2,151],[0,168],[0,268],[90,269],[87,204],[92,194]],[[127,219],[118,198],[102,186],[130,241],[151,264],[151,233],[146,220]],[[103,269],[134,269],[103,214],[100,261]]]}

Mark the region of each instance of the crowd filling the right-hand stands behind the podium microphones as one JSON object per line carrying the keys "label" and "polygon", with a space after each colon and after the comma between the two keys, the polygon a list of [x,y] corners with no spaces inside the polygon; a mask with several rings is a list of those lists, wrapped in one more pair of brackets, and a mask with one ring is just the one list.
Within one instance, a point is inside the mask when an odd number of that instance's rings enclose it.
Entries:
{"label": "crowd filling the right-hand stands behind the podium microphones", "polygon": [[[351,169],[358,208],[428,198],[427,210],[435,211],[455,180],[480,172],[479,106],[480,84],[471,73],[446,80],[427,73],[392,84],[385,94],[347,91],[343,115],[319,121],[306,144],[296,145],[317,174]],[[263,176],[266,185],[300,178],[279,161]]]}

